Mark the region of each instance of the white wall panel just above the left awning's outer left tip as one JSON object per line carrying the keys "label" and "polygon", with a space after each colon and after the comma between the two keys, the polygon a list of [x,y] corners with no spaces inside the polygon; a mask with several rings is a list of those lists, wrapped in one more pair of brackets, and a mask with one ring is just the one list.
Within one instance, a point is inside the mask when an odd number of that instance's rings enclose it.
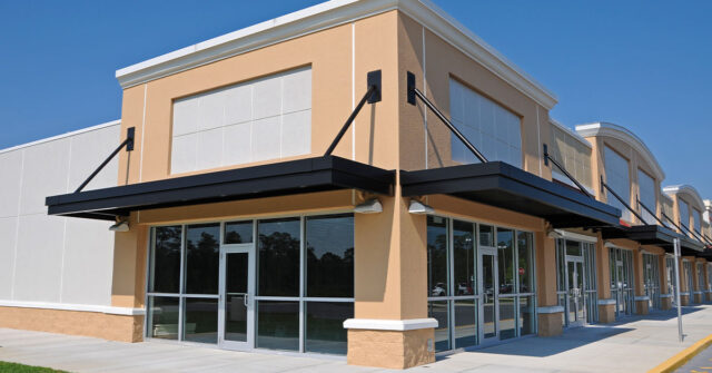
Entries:
{"label": "white wall panel just above the left awning's outer left tip", "polygon": [[20,214],[47,213],[44,197],[67,193],[69,138],[24,149]]}

